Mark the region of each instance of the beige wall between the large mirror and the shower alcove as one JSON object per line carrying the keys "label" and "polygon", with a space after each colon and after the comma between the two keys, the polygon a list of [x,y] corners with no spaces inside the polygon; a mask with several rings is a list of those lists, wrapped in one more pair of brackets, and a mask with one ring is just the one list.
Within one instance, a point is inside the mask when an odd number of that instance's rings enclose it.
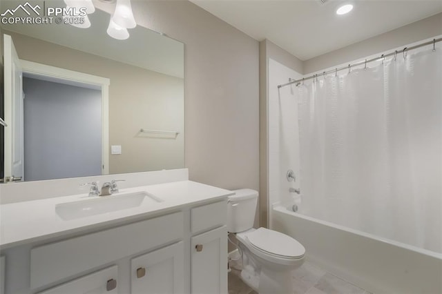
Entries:
{"label": "beige wall between the large mirror and the shower alcove", "polygon": [[185,44],[185,163],[193,181],[259,189],[258,41],[189,1],[132,1],[137,23]]}

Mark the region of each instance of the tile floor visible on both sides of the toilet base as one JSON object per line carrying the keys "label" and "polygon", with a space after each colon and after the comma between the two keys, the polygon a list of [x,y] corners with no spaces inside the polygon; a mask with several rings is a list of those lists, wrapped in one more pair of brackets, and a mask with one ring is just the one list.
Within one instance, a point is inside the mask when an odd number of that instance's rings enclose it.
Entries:
{"label": "tile floor visible on both sides of the toilet base", "polygon": [[[258,294],[240,279],[240,262],[230,264],[232,271],[229,273],[229,294]],[[290,294],[371,294],[310,262],[304,262],[297,268],[292,279],[294,292]]]}

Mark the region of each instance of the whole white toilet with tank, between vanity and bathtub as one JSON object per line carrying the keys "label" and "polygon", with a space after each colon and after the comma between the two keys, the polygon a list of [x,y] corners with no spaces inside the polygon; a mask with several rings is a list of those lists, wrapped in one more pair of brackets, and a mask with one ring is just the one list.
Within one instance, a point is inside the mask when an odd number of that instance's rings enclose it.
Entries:
{"label": "whole white toilet with tank, between vanity and bathtub", "polygon": [[241,279],[260,294],[293,293],[291,271],[304,262],[304,246],[283,233],[253,228],[258,192],[233,192],[236,195],[228,200],[227,231],[238,239]]}

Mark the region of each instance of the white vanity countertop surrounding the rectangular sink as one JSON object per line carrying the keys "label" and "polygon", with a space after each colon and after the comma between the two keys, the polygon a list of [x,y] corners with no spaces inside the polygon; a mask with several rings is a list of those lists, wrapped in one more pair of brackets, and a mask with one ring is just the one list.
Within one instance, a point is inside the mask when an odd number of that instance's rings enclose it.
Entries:
{"label": "white vanity countertop surrounding the rectangular sink", "polygon": [[[117,210],[78,219],[63,220],[55,211],[57,204],[88,200],[88,193],[52,197],[35,201],[3,204],[0,206],[0,248],[10,248],[42,239],[61,237],[81,231],[104,228],[158,213],[166,213],[180,206],[222,199],[234,193],[229,190],[192,181],[172,182],[136,188],[120,188],[119,193],[144,191],[162,199],[162,202],[142,203],[134,208]],[[106,196],[106,197],[113,197]],[[104,199],[105,197],[96,197]]]}

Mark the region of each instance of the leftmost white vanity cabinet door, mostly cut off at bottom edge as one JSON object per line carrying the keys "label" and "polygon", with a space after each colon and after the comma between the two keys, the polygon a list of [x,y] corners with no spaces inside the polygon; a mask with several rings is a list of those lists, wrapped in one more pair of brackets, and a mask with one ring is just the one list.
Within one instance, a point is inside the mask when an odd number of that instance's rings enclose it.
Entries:
{"label": "leftmost white vanity cabinet door, mostly cut off at bottom edge", "polygon": [[117,294],[117,275],[117,266],[111,266],[39,294]]}

